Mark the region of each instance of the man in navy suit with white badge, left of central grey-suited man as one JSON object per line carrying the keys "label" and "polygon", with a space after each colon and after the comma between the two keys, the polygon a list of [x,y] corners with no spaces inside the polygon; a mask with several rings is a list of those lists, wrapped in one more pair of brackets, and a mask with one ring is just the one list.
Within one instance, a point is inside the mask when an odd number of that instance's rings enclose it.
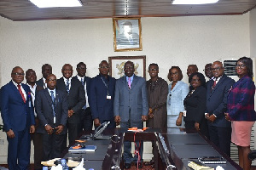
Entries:
{"label": "man in navy suit with white badge, left of central grey-suited man", "polygon": [[94,126],[99,127],[103,122],[110,122],[108,127],[115,127],[113,120],[113,94],[115,79],[108,76],[109,65],[102,60],[99,65],[100,74],[90,82],[90,108]]}

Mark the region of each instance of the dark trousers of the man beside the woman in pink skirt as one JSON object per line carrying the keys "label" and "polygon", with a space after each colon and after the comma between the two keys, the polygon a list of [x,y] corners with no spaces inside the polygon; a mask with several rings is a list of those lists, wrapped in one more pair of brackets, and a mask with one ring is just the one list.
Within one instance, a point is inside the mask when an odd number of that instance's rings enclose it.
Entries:
{"label": "dark trousers of the man beside the woman in pink skirt", "polygon": [[230,156],[231,127],[208,126],[210,140],[213,144]]}

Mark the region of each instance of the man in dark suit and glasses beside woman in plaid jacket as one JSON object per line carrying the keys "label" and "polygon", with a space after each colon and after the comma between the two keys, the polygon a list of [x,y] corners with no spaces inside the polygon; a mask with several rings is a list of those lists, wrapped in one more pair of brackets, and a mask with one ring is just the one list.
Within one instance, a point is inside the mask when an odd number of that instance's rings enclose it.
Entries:
{"label": "man in dark suit and glasses beside woman in plaid jacket", "polygon": [[210,140],[213,144],[230,156],[231,124],[225,120],[227,96],[235,81],[224,74],[220,61],[211,67],[214,79],[207,82],[207,107],[205,116],[208,120]]}

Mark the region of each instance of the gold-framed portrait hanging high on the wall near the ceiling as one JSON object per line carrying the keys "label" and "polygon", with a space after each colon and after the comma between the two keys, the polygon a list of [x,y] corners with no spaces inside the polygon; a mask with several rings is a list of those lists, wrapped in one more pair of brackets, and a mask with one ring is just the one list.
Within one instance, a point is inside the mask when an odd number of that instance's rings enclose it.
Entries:
{"label": "gold-framed portrait hanging high on the wall near the ceiling", "polygon": [[114,51],[142,51],[141,18],[113,18]]}

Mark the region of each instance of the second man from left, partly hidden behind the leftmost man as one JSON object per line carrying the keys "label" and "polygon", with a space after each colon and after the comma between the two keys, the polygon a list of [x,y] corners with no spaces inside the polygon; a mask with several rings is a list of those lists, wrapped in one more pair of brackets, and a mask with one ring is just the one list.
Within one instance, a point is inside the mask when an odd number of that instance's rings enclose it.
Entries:
{"label": "second man from left, partly hidden behind the leftmost man", "polygon": [[[38,90],[44,89],[36,84],[37,81],[37,75],[36,72],[32,69],[28,69],[26,71],[26,85],[31,90],[31,99],[32,99],[32,105],[35,105],[35,99],[36,99],[36,92]],[[36,132],[31,135],[32,141],[34,144],[34,168],[36,170],[42,169],[43,166],[41,164],[41,161],[43,161],[43,139],[42,134],[37,132],[38,127],[38,116],[35,111],[35,122],[36,122]]]}

